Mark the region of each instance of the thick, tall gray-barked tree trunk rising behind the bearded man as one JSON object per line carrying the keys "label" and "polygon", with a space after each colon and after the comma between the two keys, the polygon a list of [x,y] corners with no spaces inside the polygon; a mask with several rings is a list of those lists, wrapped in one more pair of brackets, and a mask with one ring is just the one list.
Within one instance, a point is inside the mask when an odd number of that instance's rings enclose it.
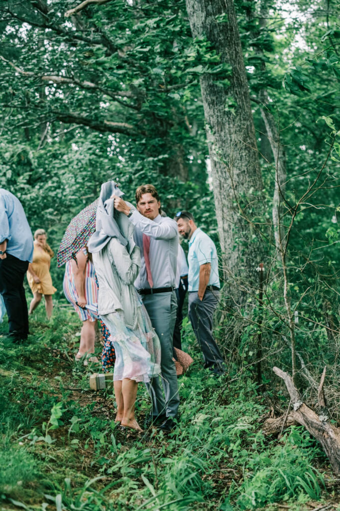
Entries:
{"label": "thick, tall gray-barked tree trunk rising behind the bearded man", "polygon": [[[262,180],[246,69],[232,0],[186,0],[193,37],[206,38],[209,51],[231,68],[229,85],[221,75],[201,77],[218,233],[224,277],[236,301],[243,301],[257,279],[261,261],[254,219],[261,205]],[[220,62],[217,63],[219,65]]]}

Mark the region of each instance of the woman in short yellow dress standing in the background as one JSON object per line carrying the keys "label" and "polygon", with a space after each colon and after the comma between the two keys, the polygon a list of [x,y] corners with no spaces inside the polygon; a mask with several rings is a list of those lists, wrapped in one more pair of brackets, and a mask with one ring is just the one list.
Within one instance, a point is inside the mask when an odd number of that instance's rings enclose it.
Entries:
{"label": "woman in short yellow dress standing in the background", "polygon": [[52,285],[50,275],[51,259],[54,256],[52,248],[46,243],[47,235],[44,229],[34,233],[33,262],[29,264],[27,280],[33,293],[29,314],[39,305],[42,295],[45,298],[47,319],[52,316],[52,295],[57,291]]}

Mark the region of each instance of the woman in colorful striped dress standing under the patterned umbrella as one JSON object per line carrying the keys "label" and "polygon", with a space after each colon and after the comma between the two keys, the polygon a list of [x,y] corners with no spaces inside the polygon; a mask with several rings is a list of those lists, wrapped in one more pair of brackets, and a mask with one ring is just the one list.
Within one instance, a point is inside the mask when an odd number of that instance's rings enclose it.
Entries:
{"label": "woman in colorful striped dress standing under the patterned umbrella", "polygon": [[76,254],[76,261],[71,259],[66,262],[63,289],[67,300],[83,322],[75,359],[79,361],[84,357],[84,365],[99,362],[98,358],[90,356],[94,353],[95,321],[98,319],[98,287],[91,255],[86,247]]}

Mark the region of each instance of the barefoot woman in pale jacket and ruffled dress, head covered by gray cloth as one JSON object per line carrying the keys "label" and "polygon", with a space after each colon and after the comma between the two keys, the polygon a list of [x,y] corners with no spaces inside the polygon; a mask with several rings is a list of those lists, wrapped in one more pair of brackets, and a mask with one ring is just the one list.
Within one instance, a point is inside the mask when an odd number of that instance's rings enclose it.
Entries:
{"label": "barefoot woman in pale jacket and ruffled dress, head covered by gray cloth", "polygon": [[140,268],[133,225],[114,210],[111,195],[122,195],[113,181],[102,185],[96,230],[88,242],[99,282],[98,311],[115,350],[115,422],[142,431],[135,419],[138,382],[160,373],[160,343],[133,285]]}

